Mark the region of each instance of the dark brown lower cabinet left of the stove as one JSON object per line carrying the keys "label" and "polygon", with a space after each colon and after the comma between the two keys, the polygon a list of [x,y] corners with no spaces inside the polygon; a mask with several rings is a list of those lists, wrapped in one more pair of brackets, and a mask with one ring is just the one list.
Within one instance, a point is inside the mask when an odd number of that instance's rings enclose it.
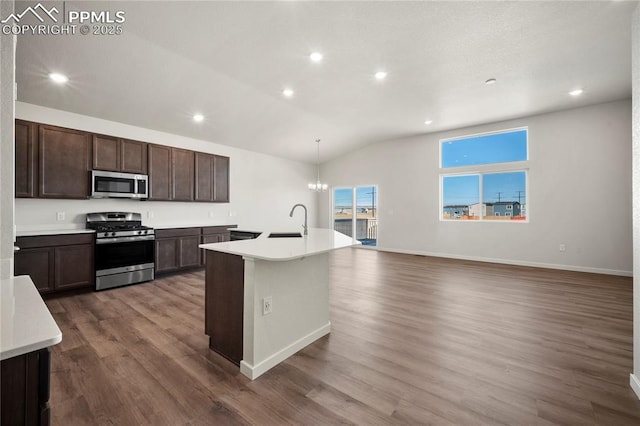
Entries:
{"label": "dark brown lower cabinet left of the stove", "polygon": [[29,275],[40,293],[93,287],[94,234],[18,237],[14,275]]}

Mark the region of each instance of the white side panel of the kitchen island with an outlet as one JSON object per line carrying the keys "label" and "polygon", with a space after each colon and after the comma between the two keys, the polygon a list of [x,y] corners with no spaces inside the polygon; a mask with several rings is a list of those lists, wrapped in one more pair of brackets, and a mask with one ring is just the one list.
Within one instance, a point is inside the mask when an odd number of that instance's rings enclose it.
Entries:
{"label": "white side panel of the kitchen island with an outlet", "polygon": [[[272,312],[262,313],[272,297]],[[327,253],[283,262],[245,260],[244,355],[240,371],[255,379],[328,334]]]}

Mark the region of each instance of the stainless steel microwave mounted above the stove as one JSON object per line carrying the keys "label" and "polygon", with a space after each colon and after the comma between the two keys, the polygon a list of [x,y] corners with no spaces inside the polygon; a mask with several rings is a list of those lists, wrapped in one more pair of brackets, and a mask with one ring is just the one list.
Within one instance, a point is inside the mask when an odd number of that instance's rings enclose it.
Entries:
{"label": "stainless steel microwave mounted above the stove", "polygon": [[91,171],[92,198],[147,198],[149,176],[133,173]]}

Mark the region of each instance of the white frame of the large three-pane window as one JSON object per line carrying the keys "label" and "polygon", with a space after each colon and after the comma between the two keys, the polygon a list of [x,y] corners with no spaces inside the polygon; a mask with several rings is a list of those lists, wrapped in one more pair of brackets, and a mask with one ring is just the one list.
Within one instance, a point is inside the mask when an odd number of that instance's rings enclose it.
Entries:
{"label": "white frame of the large three-pane window", "polygon": [[[483,135],[510,133],[510,132],[521,131],[521,130],[526,131],[527,160],[509,161],[505,163],[477,164],[477,165],[459,166],[459,167],[442,167],[442,146],[446,142],[450,142],[453,140],[473,138],[473,137],[478,137]],[[450,138],[443,138],[439,140],[438,150],[439,150],[438,161],[440,166],[439,167],[439,183],[440,184],[439,184],[439,200],[438,200],[440,213],[438,216],[439,216],[440,222],[529,223],[530,221],[529,198],[530,198],[530,192],[531,192],[529,187],[529,171],[530,171],[531,157],[530,157],[530,148],[529,148],[529,127],[528,126],[514,127],[510,129],[497,130],[497,131],[473,133],[473,134],[450,137]],[[497,174],[497,173],[511,173],[511,172],[523,172],[525,174],[525,199],[526,199],[525,204],[527,205],[525,219],[523,220],[490,220],[490,219],[487,220],[485,219],[484,217],[486,215],[484,214],[485,212],[483,212],[483,209],[482,209],[482,205],[486,204],[486,202],[484,202],[484,194],[483,194],[484,175]],[[479,204],[479,212],[480,212],[479,218],[474,220],[460,220],[460,219],[445,218],[444,217],[444,198],[443,198],[444,179],[446,177],[452,177],[452,176],[469,176],[469,175],[478,175],[479,177],[479,185],[478,185],[478,199],[479,199],[478,204]],[[522,208],[520,211],[522,213]]]}

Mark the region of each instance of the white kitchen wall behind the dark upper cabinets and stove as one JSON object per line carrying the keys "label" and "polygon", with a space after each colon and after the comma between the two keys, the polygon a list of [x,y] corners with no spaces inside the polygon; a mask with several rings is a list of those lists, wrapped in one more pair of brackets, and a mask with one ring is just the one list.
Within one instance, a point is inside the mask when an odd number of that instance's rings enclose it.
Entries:
{"label": "white kitchen wall behind the dark upper cabinets and stove", "polygon": [[[143,223],[150,226],[238,224],[258,230],[263,227],[297,229],[303,222],[302,217],[289,218],[289,210],[295,203],[307,205],[309,223],[316,223],[316,196],[307,189],[314,176],[314,165],[21,102],[16,103],[16,117],[225,155],[231,163],[230,203],[17,199],[18,232],[84,227],[85,214],[94,211],[140,212]],[[57,221],[57,212],[64,212],[66,220]]]}

